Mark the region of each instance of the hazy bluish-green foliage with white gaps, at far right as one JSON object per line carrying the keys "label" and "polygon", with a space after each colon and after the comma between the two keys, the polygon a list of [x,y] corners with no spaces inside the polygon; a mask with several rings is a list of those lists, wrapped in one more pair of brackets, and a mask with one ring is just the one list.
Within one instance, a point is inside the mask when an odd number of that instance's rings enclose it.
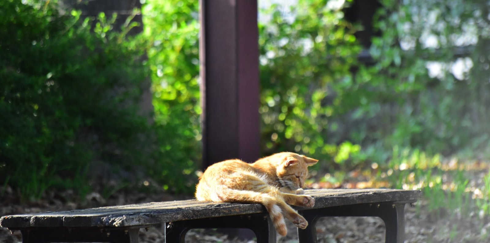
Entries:
{"label": "hazy bluish-green foliage with white gaps, at far right", "polygon": [[388,133],[385,145],[453,154],[489,144],[490,20],[486,1],[385,0],[374,23],[377,61],[358,78],[370,77],[376,90],[395,94],[378,113]]}

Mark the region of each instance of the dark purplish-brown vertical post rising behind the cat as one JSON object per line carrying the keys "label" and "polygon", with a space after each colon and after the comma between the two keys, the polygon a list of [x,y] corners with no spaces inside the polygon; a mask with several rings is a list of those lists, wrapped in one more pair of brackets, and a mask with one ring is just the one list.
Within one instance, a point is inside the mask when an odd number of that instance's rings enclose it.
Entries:
{"label": "dark purplish-brown vertical post rising behind the cat", "polygon": [[200,1],[203,169],[259,157],[257,0]]}

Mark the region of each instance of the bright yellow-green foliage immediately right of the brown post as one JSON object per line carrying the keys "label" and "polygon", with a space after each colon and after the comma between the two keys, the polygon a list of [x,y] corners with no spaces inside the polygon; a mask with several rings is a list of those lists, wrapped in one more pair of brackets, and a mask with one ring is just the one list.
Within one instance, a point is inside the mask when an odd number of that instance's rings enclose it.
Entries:
{"label": "bright yellow-green foliage immediately right of the brown post", "polygon": [[262,148],[345,161],[358,151],[336,145],[357,99],[345,92],[361,51],[355,29],[326,0],[300,0],[289,11],[273,4],[261,14],[270,16],[259,23]]}

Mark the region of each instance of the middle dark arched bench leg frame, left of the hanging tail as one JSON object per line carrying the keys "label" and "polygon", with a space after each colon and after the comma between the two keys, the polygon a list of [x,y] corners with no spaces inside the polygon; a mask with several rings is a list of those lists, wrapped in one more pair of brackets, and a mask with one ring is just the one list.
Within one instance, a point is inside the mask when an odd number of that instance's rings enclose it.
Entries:
{"label": "middle dark arched bench leg frame, left of the hanging tail", "polygon": [[257,237],[257,243],[275,243],[274,225],[266,214],[234,215],[165,223],[165,242],[184,243],[190,229],[246,228]]}

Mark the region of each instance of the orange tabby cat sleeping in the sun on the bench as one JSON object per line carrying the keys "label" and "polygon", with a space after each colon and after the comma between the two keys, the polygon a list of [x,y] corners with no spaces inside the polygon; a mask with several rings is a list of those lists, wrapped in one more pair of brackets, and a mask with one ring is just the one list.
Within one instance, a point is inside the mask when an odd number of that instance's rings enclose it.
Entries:
{"label": "orange tabby cat sleeping in the sun on the bench", "polygon": [[261,203],[267,208],[279,234],[288,232],[284,217],[296,227],[306,228],[308,222],[290,205],[312,207],[315,200],[303,194],[301,187],[308,175],[308,166],[318,160],[283,152],[254,163],[227,160],[209,166],[196,186],[199,201],[227,203]]}

